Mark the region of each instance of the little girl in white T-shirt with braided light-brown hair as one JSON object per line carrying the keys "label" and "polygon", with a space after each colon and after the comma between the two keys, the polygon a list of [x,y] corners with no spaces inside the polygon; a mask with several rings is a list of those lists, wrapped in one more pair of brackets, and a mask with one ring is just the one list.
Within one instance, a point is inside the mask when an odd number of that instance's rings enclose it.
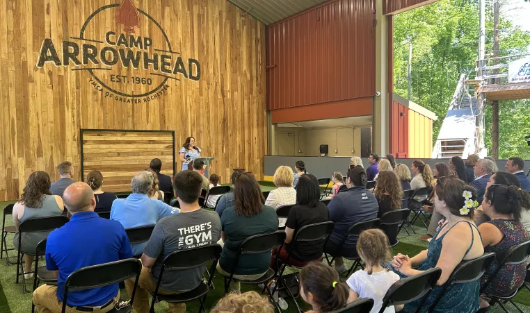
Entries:
{"label": "little girl in white T-shirt with braided light-brown hair", "polygon": [[[357,253],[364,269],[353,273],[346,283],[351,288],[348,302],[358,298],[374,299],[374,307],[370,312],[377,313],[383,306],[383,298],[388,289],[399,280],[399,275],[381,264],[387,264],[392,260],[390,253],[390,242],[387,235],[379,229],[369,229],[361,232],[357,242]],[[403,305],[397,305],[396,311],[403,309]],[[387,307],[385,312],[395,312],[394,306]]]}

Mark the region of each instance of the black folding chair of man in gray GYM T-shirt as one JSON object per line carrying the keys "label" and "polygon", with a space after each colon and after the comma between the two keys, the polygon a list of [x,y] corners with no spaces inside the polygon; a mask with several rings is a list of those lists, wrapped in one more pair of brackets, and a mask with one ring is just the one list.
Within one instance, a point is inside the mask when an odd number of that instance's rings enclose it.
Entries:
{"label": "black folding chair of man in gray GYM T-shirt", "polygon": [[[204,310],[204,300],[210,290],[211,281],[214,279],[214,273],[216,265],[220,257],[220,253],[223,248],[218,244],[209,244],[208,246],[201,246],[199,248],[190,248],[173,251],[168,255],[162,263],[160,269],[159,279],[156,281],[156,288],[154,292],[150,292],[153,296],[151,303],[151,313],[154,313],[154,304],[157,301],[166,301],[168,303],[186,303],[196,298],[199,298],[200,309],[199,313]],[[174,271],[182,271],[185,269],[196,269],[198,267],[204,267],[207,263],[211,263],[210,274],[208,283],[200,282],[200,285],[193,290],[186,291],[182,294],[159,294],[160,282],[163,278],[164,269],[172,269]]]}

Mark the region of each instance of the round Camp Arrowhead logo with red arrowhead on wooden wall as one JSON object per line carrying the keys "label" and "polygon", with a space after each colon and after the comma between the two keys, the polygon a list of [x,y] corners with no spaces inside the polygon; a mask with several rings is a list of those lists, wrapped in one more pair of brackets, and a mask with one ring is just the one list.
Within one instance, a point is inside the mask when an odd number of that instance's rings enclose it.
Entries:
{"label": "round Camp Arrowhead logo with red arrowhead on wooden wall", "polygon": [[[109,17],[115,21],[105,29]],[[169,80],[200,79],[199,61],[175,51],[159,22],[136,8],[133,0],[98,8],[79,36],[68,39],[57,49],[46,38],[36,66],[88,71],[90,85],[115,101],[147,103],[166,93]]]}

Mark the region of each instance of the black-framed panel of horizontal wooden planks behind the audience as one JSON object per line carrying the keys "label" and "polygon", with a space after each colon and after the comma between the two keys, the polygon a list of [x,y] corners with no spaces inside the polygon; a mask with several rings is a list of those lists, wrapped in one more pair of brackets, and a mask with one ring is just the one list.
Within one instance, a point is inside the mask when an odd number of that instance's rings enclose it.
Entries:
{"label": "black-framed panel of horizontal wooden planks behind the audience", "polygon": [[103,174],[106,192],[130,192],[131,178],[149,167],[153,155],[162,161],[161,173],[173,176],[173,133],[83,130],[83,177]]}

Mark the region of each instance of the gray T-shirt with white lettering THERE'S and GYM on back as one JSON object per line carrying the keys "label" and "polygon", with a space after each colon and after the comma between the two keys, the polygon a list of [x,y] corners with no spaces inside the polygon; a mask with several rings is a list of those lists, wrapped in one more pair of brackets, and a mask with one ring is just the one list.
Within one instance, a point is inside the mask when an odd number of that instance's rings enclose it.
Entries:
{"label": "gray T-shirt with white lettering THERE'S and GYM on back", "polygon": [[[158,281],[163,260],[173,251],[216,244],[220,238],[220,220],[216,212],[200,209],[180,212],[160,219],[152,232],[143,253],[156,258],[152,267],[155,282]],[[160,288],[168,291],[189,291],[198,287],[206,267],[175,271],[164,269]]]}

